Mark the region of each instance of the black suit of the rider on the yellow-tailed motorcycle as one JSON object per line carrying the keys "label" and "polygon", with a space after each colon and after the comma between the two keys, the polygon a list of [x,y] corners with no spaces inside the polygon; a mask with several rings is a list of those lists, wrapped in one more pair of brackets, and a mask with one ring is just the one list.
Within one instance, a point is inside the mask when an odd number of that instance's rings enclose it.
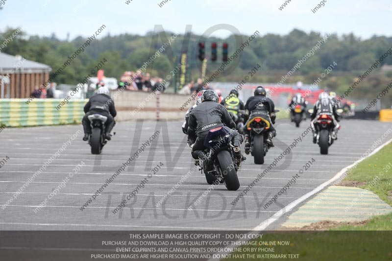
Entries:
{"label": "black suit of the rider on the yellow-tailed motorcycle", "polygon": [[[272,125],[272,123],[275,123],[276,118],[276,116],[273,114],[275,112],[275,104],[270,98],[263,95],[251,96],[246,101],[245,110],[249,111],[249,119],[246,121],[244,126],[245,135],[249,135],[249,131],[246,127],[247,122],[254,117],[260,116],[270,122],[270,128],[268,129],[268,132],[272,134],[272,137],[276,136],[275,128]],[[273,116],[270,117],[271,115]]]}

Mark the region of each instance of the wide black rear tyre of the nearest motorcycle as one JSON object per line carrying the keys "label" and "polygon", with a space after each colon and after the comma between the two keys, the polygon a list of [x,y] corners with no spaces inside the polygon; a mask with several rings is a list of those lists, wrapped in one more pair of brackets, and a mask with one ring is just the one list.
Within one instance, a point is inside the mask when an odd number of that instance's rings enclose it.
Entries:
{"label": "wide black rear tyre of the nearest motorcycle", "polygon": [[234,167],[233,160],[227,150],[222,150],[218,153],[218,161],[223,172],[223,181],[227,190],[238,190],[240,188],[240,181],[238,180],[237,172]]}

